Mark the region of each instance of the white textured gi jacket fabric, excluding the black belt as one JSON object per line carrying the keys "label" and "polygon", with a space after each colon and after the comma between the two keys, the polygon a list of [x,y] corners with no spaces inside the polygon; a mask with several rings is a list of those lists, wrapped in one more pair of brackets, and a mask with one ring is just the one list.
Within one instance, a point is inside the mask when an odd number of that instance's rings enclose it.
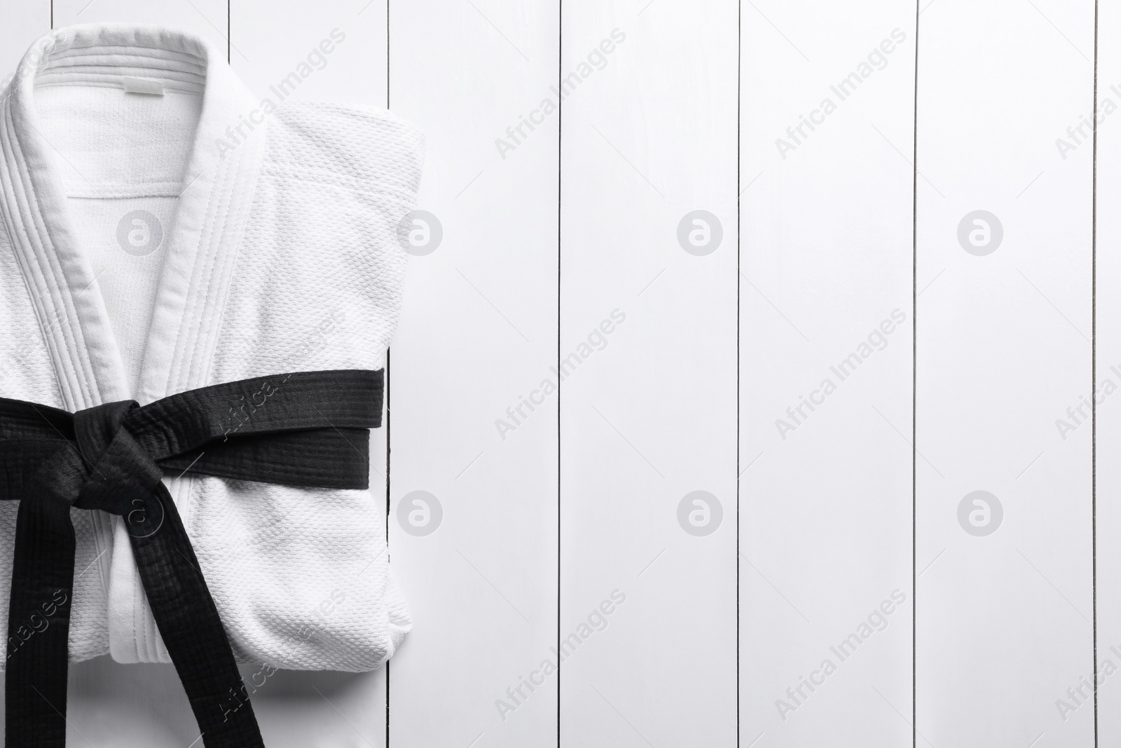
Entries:
{"label": "white textured gi jacket fabric, excluding the black belt", "polygon": [[[165,93],[127,93],[126,76]],[[0,96],[0,395],[76,410],[385,364],[420,172],[410,127],[277,109],[203,40],[142,26],[53,31]],[[166,481],[239,658],[364,671],[392,655],[410,620],[377,468],[371,491]],[[0,505],[0,619],[15,516]],[[119,519],[74,518],[71,657],[167,662]]]}

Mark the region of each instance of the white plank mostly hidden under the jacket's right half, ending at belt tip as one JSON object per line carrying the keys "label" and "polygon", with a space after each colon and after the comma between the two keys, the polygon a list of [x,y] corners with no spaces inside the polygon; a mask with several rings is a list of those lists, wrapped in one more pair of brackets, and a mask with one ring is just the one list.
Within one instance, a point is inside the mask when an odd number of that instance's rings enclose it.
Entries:
{"label": "white plank mostly hidden under the jacket's right half, ending at belt tip", "polygon": [[[287,93],[293,100],[386,105],[386,0],[240,0],[231,3],[230,12],[230,64],[262,99],[279,103],[274,87],[307,64],[311,73]],[[321,46],[325,40],[330,44]],[[383,423],[370,440],[370,492],[376,501],[386,496],[388,417]],[[270,748],[386,745],[386,668],[354,674],[287,671],[267,678],[254,677],[258,669],[247,669],[243,676],[262,684],[252,692],[253,709]]]}

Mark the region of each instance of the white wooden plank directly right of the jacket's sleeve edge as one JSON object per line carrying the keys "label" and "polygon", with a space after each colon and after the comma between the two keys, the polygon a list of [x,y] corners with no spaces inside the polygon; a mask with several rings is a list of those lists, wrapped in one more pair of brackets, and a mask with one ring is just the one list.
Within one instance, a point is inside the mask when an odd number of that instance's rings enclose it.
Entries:
{"label": "white wooden plank directly right of the jacket's sleeve edge", "polygon": [[[555,2],[391,8],[390,100],[426,135],[420,207],[443,227],[410,259],[391,358],[390,545],[416,620],[390,669],[395,748],[556,745],[556,678],[520,683],[556,641],[556,403],[519,397],[557,349],[558,120],[522,126],[504,159],[495,139],[549,95],[557,18]],[[423,512],[416,491],[443,508],[427,535],[400,521]]]}

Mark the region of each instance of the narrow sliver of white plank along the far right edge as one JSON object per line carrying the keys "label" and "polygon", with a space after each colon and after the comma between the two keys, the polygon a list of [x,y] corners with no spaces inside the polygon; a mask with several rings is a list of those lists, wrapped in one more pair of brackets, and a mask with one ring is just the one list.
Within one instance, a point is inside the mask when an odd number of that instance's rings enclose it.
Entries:
{"label": "narrow sliver of white plank along the far right edge", "polygon": [[[1096,334],[1097,371],[1094,387],[1096,400],[1096,532],[1097,532],[1097,745],[1112,746],[1121,740],[1121,547],[1114,538],[1121,533],[1121,506],[1115,497],[1121,491],[1121,215],[1115,205],[1121,203],[1121,41],[1119,26],[1121,3],[1105,0],[1099,3],[1097,18],[1097,293]],[[1067,153],[1067,160],[1085,161],[1091,157],[1092,144],[1080,145]],[[1056,147],[1056,156],[1057,155]],[[1084,167],[1083,167],[1084,168]],[[1090,400],[1088,393],[1082,393]],[[1081,403],[1071,403],[1077,406]],[[1085,412],[1085,407],[1083,410]],[[1068,416],[1063,414],[1064,421]],[[1080,418],[1077,431],[1066,432],[1071,441],[1090,424]],[[1059,440],[1056,426],[1056,440]],[[1085,438],[1085,437],[1083,437]],[[1085,683],[1092,683],[1088,666]],[[1072,683],[1071,687],[1090,687]],[[1076,691],[1056,694],[1053,719],[1055,723],[1088,719],[1083,712],[1093,709],[1092,701]],[[1077,699],[1077,703],[1075,702]],[[1062,700],[1062,704],[1058,703]],[[1075,711],[1071,711],[1072,708]],[[1065,718],[1065,719],[1064,719]]]}

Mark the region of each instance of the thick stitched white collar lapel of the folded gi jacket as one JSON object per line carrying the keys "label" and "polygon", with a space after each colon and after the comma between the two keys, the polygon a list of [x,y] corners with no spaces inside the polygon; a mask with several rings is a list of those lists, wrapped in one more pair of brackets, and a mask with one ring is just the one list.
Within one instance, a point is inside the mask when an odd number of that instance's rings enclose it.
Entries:
{"label": "thick stitched white collar lapel of the folded gi jacket", "polygon": [[[34,99],[37,84],[119,86],[123,75],[203,95],[137,393],[128,391],[96,278],[67,213],[58,155],[43,137]],[[67,408],[130,397],[146,403],[209,384],[263,151],[265,128],[245,127],[256,104],[224,55],[203,39],[123,24],[47,34],[0,93],[0,227],[22,268]],[[232,150],[231,131],[243,136],[235,135]]]}

